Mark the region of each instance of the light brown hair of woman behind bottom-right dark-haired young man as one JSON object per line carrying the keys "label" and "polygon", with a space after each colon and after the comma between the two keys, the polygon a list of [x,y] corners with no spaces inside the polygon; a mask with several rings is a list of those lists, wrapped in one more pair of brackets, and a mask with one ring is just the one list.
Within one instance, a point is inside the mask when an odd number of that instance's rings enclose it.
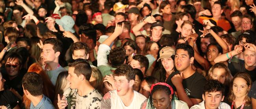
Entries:
{"label": "light brown hair of woman behind bottom-right dark-haired young man", "polygon": [[225,82],[224,82],[224,85],[225,86],[229,86],[230,85],[230,82],[231,82],[231,80],[232,80],[232,78],[233,78],[233,76],[231,75],[231,72],[230,72],[230,70],[228,69],[228,67],[225,65],[225,64],[223,64],[223,63],[216,63],[216,64],[214,64],[211,68],[210,68],[210,70],[208,71],[208,75],[207,75],[207,79],[209,80],[209,79],[213,79],[211,76],[212,76],[212,71],[213,71],[213,69],[215,69],[215,68],[223,68],[224,70],[225,70]]}

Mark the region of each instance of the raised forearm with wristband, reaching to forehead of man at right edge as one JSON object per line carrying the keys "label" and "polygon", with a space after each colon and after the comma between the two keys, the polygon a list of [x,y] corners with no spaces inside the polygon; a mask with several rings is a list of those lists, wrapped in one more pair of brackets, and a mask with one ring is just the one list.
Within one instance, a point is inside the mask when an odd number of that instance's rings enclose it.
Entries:
{"label": "raised forearm with wristband, reaching to forehead of man at right edge", "polygon": [[217,57],[214,59],[214,62],[215,62],[215,63],[219,63],[219,62],[227,61],[227,60],[230,59],[232,56],[235,56],[235,55],[237,55],[237,54],[242,53],[242,50],[243,50],[243,46],[236,45],[236,46],[235,46],[235,50],[233,50],[233,51],[231,51],[231,52],[228,52],[228,53],[226,53],[226,54],[222,54],[222,55],[217,56]]}

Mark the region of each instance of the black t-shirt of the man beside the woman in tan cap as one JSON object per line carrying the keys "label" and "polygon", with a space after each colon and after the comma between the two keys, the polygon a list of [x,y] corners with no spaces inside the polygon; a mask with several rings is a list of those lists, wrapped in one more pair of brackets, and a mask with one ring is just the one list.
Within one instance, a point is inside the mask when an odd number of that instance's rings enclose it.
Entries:
{"label": "black t-shirt of the man beside the woman in tan cap", "polygon": [[205,77],[196,71],[190,77],[183,79],[182,85],[189,98],[197,98],[202,100],[205,82]]}

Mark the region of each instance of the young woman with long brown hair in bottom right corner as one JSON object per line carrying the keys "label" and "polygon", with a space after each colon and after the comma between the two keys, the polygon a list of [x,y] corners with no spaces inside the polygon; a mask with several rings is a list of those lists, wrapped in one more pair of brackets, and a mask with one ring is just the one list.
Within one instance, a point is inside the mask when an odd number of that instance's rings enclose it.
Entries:
{"label": "young woman with long brown hair in bottom right corner", "polygon": [[231,109],[252,109],[251,98],[248,96],[252,80],[245,72],[238,72],[232,79],[228,96]]}

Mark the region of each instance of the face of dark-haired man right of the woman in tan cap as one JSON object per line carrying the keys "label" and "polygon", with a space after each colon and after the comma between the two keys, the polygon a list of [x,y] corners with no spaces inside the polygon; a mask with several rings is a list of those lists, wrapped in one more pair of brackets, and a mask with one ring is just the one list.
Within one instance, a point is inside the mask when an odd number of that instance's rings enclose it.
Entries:
{"label": "face of dark-haired man right of the woman in tan cap", "polygon": [[189,59],[189,55],[187,51],[183,49],[176,50],[174,64],[175,64],[175,68],[178,71],[186,70],[190,66],[190,64],[193,63],[193,61],[194,61],[193,59]]}

